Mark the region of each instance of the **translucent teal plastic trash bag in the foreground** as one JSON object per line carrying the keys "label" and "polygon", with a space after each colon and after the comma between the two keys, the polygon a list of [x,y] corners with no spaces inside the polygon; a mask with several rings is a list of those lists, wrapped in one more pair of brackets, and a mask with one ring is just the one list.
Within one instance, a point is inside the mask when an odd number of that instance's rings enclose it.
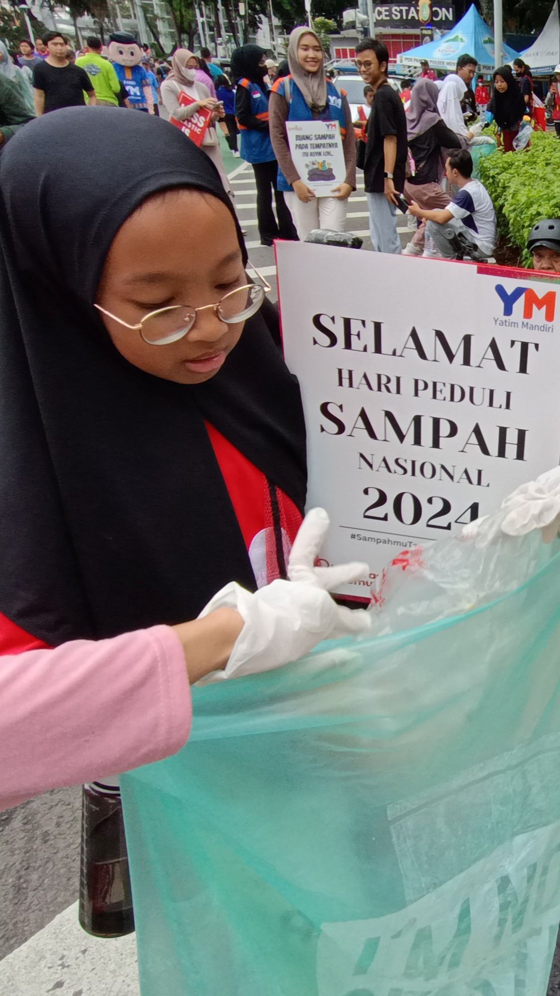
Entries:
{"label": "translucent teal plastic trash bag in the foreground", "polygon": [[487,604],[193,689],[186,747],[122,779],[142,996],[544,996],[560,554],[537,537]]}

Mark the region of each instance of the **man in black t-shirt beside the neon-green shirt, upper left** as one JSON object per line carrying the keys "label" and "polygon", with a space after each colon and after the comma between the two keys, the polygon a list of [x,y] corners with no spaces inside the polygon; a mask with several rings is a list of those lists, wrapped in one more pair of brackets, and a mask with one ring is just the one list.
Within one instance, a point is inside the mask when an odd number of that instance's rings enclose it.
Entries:
{"label": "man in black t-shirt beside the neon-green shirt, upper left", "polygon": [[60,31],[50,31],[44,42],[47,59],[33,70],[37,117],[60,108],[83,107],[85,93],[90,105],[97,104],[96,92],[86,70],[68,60],[68,39]]}

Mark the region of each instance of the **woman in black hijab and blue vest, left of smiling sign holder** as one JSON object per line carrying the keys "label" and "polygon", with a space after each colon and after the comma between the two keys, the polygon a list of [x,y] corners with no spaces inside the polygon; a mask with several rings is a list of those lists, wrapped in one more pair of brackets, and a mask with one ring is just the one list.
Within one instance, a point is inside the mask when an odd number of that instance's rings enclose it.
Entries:
{"label": "woman in black hijab and blue vest, left of smiling sign holder", "polygon": [[[258,45],[243,45],[231,56],[236,83],[235,118],[241,135],[241,158],[250,162],[257,188],[257,223],[261,245],[274,239],[297,239],[292,215],[278,188],[278,162],[269,132],[270,91],[264,86],[266,52]],[[272,210],[272,195],[276,214]]]}

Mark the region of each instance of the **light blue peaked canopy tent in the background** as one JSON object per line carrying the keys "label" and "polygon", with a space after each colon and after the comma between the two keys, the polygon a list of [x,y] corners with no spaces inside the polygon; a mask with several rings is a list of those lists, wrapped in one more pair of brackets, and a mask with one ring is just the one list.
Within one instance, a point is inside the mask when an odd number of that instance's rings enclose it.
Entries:
{"label": "light blue peaked canopy tent in the background", "polygon": [[[503,46],[504,61],[516,59],[508,45]],[[446,35],[437,41],[419,45],[416,49],[403,52],[399,62],[404,66],[419,66],[421,59],[427,59],[432,69],[454,70],[459,56],[468,54],[478,62],[479,73],[494,71],[494,35],[474,4],[471,4],[461,20]]]}

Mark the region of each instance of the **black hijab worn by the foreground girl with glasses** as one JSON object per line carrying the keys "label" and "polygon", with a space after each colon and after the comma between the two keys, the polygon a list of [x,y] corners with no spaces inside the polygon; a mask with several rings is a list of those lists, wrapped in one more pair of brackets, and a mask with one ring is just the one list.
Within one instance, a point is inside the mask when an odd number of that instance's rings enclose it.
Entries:
{"label": "black hijab worn by the foreground girl with glasses", "polygon": [[57,111],[1,157],[0,612],[52,644],[191,619],[229,581],[254,588],[205,419],[303,509],[299,389],[266,307],[195,386],[129,364],[93,307],[121,225],[177,186],[235,218],[204,152],[138,112]]}

